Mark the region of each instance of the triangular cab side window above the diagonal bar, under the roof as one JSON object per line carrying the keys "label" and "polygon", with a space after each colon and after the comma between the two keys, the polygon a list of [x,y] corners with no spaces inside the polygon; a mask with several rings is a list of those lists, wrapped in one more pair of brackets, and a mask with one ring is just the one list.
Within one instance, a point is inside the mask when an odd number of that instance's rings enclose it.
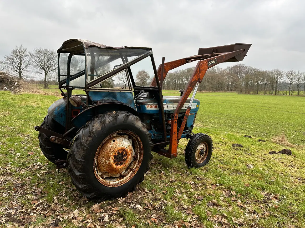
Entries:
{"label": "triangular cab side window above the diagonal bar, under the roof", "polygon": [[89,47],[87,49],[87,81],[92,81],[146,52],[145,49],[99,49]]}

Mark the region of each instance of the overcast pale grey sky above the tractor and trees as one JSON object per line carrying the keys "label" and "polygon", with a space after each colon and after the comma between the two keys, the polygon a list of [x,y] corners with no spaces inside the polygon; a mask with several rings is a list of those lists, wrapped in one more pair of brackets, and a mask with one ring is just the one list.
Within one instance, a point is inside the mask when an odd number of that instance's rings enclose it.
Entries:
{"label": "overcast pale grey sky above the tractor and trees", "polygon": [[252,43],[242,63],[305,71],[304,12],[304,0],[1,0],[0,58],[15,45],[57,50],[71,38],[152,47],[156,64]]}

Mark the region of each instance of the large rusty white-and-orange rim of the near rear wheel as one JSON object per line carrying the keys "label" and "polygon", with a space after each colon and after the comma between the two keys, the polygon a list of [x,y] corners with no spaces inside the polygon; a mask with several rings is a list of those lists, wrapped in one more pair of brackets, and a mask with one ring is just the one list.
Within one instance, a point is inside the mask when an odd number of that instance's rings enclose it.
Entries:
{"label": "large rusty white-and-orange rim of the near rear wheel", "polygon": [[120,130],[106,137],[94,156],[94,174],[108,187],[118,187],[130,181],[143,159],[143,144],[132,131]]}

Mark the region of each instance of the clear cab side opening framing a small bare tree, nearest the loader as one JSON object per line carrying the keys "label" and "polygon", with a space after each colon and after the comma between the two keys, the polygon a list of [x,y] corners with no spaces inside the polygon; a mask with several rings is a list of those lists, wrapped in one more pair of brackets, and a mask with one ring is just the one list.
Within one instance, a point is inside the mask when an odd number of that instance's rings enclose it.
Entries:
{"label": "clear cab side opening framing a small bare tree, nearest the loader", "polygon": [[130,69],[137,86],[149,86],[155,77],[150,56],[131,65]]}

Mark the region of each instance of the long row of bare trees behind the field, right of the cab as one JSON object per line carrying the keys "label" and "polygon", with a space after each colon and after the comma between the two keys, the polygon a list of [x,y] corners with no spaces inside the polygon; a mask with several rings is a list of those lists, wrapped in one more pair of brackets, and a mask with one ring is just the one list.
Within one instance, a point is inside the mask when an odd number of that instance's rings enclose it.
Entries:
{"label": "long row of bare trees behind the field, right of the cab", "polygon": [[[163,81],[164,89],[184,89],[195,67],[169,72]],[[264,71],[245,64],[210,68],[198,91],[238,92],[244,94],[305,95],[305,72]]]}

